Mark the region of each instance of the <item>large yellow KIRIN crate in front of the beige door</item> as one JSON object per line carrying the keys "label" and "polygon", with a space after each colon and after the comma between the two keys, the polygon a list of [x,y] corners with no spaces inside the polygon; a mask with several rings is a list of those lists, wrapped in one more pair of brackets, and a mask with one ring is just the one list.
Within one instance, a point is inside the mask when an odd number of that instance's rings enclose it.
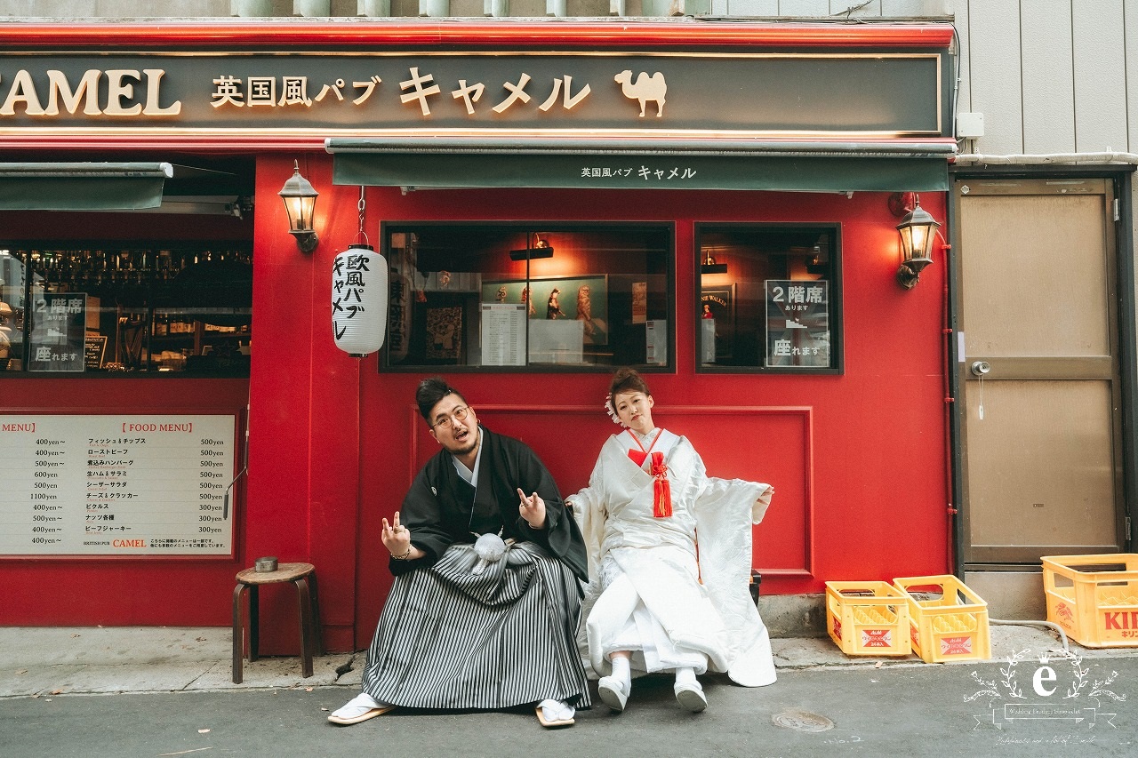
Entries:
{"label": "large yellow KIRIN crate in front of the beige door", "polygon": [[1087,648],[1138,646],[1138,554],[1045,555],[1047,620]]}

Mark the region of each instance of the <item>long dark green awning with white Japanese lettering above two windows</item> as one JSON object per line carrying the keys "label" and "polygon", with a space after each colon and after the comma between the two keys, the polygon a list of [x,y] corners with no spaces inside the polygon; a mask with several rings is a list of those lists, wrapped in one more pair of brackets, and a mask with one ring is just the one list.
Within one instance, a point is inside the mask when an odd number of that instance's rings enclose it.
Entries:
{"label": "long dark green awning with white Japanese lettering above two windows", "polygon": [[955,143],[330,139],[325,149],[337,184],[924,192],[948,190]]}

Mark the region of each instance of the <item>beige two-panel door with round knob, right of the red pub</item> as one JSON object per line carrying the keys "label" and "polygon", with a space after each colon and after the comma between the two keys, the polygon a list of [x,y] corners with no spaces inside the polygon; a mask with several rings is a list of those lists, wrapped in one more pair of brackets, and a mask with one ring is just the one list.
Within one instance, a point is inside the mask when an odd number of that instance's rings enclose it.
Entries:
{"label": "beige two-panel door with round knob, right of the red pub", "polygon": [[1107,180],[958,179],[966,566],[1124,545]]}

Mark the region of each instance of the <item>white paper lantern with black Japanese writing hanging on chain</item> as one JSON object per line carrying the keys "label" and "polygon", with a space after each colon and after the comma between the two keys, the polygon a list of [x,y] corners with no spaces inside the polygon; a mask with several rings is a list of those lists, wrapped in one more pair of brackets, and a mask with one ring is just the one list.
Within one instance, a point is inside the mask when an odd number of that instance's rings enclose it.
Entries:
{"label": "white paper lantern with black Japanese writing hanging on chain", "polygon": [[353,245],[332,262],[332,338],[353,357],[384,346],[387,261],[370,245]]}

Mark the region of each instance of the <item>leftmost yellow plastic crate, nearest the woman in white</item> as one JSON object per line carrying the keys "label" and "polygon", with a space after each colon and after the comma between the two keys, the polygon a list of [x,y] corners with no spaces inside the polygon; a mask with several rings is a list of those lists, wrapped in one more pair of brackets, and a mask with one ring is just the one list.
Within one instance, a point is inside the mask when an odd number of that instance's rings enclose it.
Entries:
{"label": "leftmost yellow plastic crate, nearest the woman in white", "polygon": [[847,656],[908,656],[905,594],[885,582],[826,582],[826,631]]}

